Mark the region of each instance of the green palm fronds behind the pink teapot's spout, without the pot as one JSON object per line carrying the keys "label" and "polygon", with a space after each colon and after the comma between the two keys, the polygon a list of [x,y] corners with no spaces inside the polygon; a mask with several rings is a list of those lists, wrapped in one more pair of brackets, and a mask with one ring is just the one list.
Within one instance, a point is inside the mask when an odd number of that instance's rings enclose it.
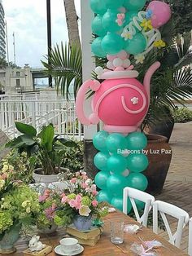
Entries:
{"label": "green palm fronds behind the pink teapot's spout, without the pot", "polygon": [[[192,54],[188,50],[190,41],[187,38],[186,36],[183,45],[181,38],[175,38],[174,42],[163,51],[151,51],[142,64],[140,81],[155,60],[161,63],[160,68],[151,78],[151,104],[142,129],[168,119],[169,113],[164,109],[174,110],[177,103],[184,105],[185,99],[190,99],[192,96],[192,73],[188,66],[192,61]],[[139,64],[135,66],[137,70],[141,68]]]}

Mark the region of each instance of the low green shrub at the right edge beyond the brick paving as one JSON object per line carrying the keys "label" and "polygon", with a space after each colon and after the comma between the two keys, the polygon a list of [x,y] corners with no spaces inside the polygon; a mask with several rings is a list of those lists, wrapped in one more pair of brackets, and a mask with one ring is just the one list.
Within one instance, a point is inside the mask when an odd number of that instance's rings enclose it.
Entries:
{"label": "low green shrub at the right edge beyond the brick paving", "polygon": [[172,112],[172,116],[175,122],[187,122],[192,121],[192,111],[189,108],[176,108]]}

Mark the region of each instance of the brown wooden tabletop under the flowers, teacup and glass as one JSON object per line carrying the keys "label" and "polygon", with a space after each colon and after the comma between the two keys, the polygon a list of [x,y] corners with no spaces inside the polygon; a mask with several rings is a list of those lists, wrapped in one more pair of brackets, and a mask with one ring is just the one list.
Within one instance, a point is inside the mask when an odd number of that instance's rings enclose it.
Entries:
{"label": "brown wooden tabletop under the flowers, teacup and glass", "polygon": [[[130,235],[128,233],[124,233],[124,243],[122,245],[113,245],[110,241],[110,222],[115,222],[117,219],[124,219],[125,224],[137,224],[133,218],[130,218],[129,216],[116,211],[114,213],[108,214],[104,218],[104,232],[101,236],[100,241],[98,241],[98,244],[94,247],[90,247],[87,245],[84,245],[84,252],[79,254],[80,256],[133,256],[134,254],[129,251],[130,246],[133,244],[133,242],[137,242],[141,244],[139,238],[142,238],[143,241],[151,241],[153,239],[157,239],[160,241],[164,247],[161,247],[157,249],[157,253],[159,256],[182,256],[182,255],[188,255],[181,251],[181,249],[177,249],[177,247],[171,245],[168,241],[165,241],[164,238],[161,236],[155,235],[151,231],[151,229],[142,227],[142,230],[137,233],[137,235]],[[59,240],[65,236],[65,232],[63,230],[57,232],[55,236],[49,236],[45,239],[41,239],[46,245],[52,245],[55,247],[56,245],[59,245]],[[17,252],[15,254],[9,254],[9,255],[15,255],[15,256],[21,256],[23,255],[22,251],[27,248],[26,243],[24,241],[18,241],[18,244],[16,245]],[[1,254],[2,255],[2,254]],[[55,256],[54,250],[49,254],[49,256]]]}

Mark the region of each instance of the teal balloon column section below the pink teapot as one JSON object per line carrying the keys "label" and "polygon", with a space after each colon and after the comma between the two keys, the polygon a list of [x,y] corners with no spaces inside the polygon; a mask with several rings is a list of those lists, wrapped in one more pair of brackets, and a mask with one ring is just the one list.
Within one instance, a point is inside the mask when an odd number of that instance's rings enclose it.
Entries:
{"label": "teal balloon column section below the pink teapot", "polygon": [[[95,183],[101,189],[98,201],[107,201],[122,210],[124,187],[144,191],[148,184],[146,176],[142,174],[148,166],[144,153],[146,136],[137,131],[124,136],[101,130],[94,135],[93,143],[100,151],[94,157],[94,165],[100,170],[95,176]],[[144,206],[139,201],[136,204],[140,209]],[[130,202],[128,205],[129,212]]]}

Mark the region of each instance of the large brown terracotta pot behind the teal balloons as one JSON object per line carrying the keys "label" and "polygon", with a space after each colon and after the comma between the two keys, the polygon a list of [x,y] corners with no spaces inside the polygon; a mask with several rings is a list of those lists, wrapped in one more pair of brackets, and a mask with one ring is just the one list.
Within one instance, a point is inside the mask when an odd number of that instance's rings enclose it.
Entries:
{"label": "large brown terracotta pot behind the teal balloons", "polygon": [[148,179],[146,192],[157,195],[162,192],[172,159],[172,148],[166,143],[167,138],[161,135],[146,135],[148,139],[146,156],[149,166],[143,172]]}

